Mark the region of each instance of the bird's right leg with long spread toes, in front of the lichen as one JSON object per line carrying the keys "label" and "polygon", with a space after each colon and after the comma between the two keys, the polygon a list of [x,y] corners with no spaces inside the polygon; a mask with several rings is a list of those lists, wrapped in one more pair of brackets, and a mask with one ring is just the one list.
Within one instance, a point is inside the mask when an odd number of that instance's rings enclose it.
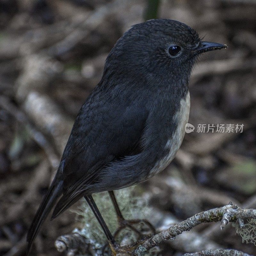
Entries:
{"label": "bird's right leg with long spread toes, in front of the lichen", "polygon": [[148,220],[125,220],[121,211],[120,211],[120,208],[117,204],[117,201],[116,201],[116,197],[115,197],[115,194],[113,191],[108,191],[109,193],[109,196],[111,198],[111,201],[115,207],[115,210],[116,210],[116,215],[117,215],[117,220],[118,220],[118,223],[119,223],[119,228],[117,228],[115,234],[114,234],[114,237],[118,235],[118,233],[125,227],[128,227],[130,229],[132,229],[135,233],[137,233],[137,235],[139,236],[139,238],[143,238],[143,234],[136,228],[134,228],[132,225],[134,224],[139,224],[139,223],[143,223],[144,225],[148,226],[148,228],[150,229],[150,231],[152,232],[152,234],[155,234],[156,233],[156,230],[155,228],[153,227],[153,225],[148,221]]}

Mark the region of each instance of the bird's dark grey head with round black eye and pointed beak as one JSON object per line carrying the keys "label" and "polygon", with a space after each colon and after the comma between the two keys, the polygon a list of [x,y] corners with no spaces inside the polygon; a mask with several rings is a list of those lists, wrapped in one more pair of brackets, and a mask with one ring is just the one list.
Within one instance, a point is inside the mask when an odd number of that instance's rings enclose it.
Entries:
{"label": "bird's dark grey head with round black eye and pointed beak", "polygon": [[226,47],[202,41],[193,28],[179,21],[148,20],[134,25],[117,41],[105,70],[111,68],[126,78],[180,77],[186,83],[199,54]]}

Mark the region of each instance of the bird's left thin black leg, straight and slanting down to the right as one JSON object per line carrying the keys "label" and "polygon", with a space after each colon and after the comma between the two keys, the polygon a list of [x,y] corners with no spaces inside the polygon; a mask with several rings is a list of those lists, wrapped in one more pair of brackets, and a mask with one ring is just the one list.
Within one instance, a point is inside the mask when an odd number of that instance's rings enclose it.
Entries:
{"label": "bird's left thin black leg, straight and slanting down to the right", "polygon": [[113,248],[118,248],[118,244],[116,243],[114,237],[111,235],[105,221],[103,220],[100,211],[97,207],[97,205],[95,204],[92,196],[84,196],[85,200],[87,201],[87,203],[89,204],[89,206],[92,209],[92,212],[94,213],[95,217],[97,218],[97,220],[100,223],[101,228],[103,229],[105,235],[107,236],[108,242],[111,243],[111,245],[113,246]]}

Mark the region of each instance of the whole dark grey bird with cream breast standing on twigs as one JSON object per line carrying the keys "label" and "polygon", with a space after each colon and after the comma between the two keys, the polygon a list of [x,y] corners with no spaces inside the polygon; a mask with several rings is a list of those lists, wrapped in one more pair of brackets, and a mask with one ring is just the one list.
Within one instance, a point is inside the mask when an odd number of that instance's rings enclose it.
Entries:
{"label": "whole dark grey bird with cream breast standing on twigs", "polygon": [[174,158],[185,134],[191,69],[202,52],[226,48],[204,42],[193,28],[175,20],[132,26],[109,53],[103,76],[80,109],[60,166],[29,228],[28,252],[53,206],[52,219],[84,197],[109,232],[92,194],[147,180]]}

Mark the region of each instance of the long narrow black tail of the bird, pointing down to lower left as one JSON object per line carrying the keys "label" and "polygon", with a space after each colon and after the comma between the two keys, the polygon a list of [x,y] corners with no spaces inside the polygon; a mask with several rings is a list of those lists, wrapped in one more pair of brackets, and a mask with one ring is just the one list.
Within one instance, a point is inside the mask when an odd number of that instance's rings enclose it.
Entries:
{"label": "long narrow black tail of the bird, pointing down to lower left", "polygon": [[27,235],[27,255],[30,251],[31,245],[39,231],[39,228],[43,224],[44,220],[46,219],[47,215],[51,211],[53,205],[60,197],[61,190],[62,190],[63,181],[57,181],[56,177],[52,181],[52,185],[50,186],[47,194],[44,196],[43,202],[40,204],[39,209],[36,212],[34,220],[30,225]]}

